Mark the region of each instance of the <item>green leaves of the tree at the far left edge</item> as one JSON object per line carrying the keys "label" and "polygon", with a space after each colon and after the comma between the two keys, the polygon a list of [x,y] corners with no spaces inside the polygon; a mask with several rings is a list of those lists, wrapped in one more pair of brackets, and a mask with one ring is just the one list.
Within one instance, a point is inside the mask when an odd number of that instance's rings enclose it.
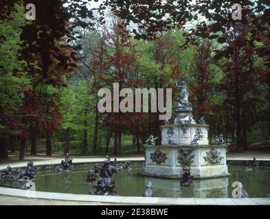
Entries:
{"label": "green leaves of the tree at the far left edge", "polygon": [[[27,73],[23,72],[24,61],[18,60],[21,48],[21,26],[25,25],[22,5],[15,6],[16,11],[0,21],[0,111],[3,114],[17,112],[23,101],[23,90],[31,88]],[[3,120],[1,121],[3,123]]]}

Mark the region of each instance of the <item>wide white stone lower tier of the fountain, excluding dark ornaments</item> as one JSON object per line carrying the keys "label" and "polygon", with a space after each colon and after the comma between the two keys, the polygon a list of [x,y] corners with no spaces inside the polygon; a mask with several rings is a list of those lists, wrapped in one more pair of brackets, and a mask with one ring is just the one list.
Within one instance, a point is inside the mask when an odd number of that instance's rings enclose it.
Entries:
{"label": "wide white stone lower tier of the fountain, excluding dark ornaments", "polygon": [[[159,145],[159,146],[145,146],[146,147],[146,167],[144,174],[155,177],[169,177],[180,178],[182,176],[182,166],[178,162],[179,149],[181,147],[191,147],[194,155],[192,165],[190,166],[190,174],[194,178],[212,178],[225,177],[229,175],[226,164],[226,146],[225,145]],[[219,164],[209,164],[203,157],[211,149],[220,153],[223,157]],[[160,164],[151,159],[151,154],[155,151],[164,153],[166,159]]]}

